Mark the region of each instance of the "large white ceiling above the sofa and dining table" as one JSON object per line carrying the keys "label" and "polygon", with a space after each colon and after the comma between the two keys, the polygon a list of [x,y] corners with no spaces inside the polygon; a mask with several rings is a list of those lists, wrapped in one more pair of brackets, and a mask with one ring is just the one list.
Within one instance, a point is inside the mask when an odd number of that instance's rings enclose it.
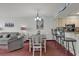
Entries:
{"label": "large white ceiling above the sofa and dining table", "polygon": [[0,17],[56,16],[65,3],[0,3]]}

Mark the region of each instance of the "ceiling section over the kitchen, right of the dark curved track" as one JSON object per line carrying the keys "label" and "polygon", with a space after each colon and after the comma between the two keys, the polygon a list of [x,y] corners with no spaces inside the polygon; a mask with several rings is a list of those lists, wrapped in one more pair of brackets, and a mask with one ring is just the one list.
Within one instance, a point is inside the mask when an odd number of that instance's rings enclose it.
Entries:
{"label": "ceiling section over the kitchen, right of the dark curved track", "polygon": [[58,16],[61,18],[69,16],[79,16],[79,14],[76,14],[78,12],[79,12],[79,3],[72,3]]}

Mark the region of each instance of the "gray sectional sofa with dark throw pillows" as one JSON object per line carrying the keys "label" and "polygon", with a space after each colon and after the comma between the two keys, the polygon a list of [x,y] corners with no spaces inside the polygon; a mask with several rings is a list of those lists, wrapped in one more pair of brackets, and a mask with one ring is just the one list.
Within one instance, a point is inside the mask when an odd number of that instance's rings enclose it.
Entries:
{"label": "gray sectional sofa with dark throw pillows", "polygon": [[14,51],[23,48],[23,37],[18,32],[0,33],[0,49]]}

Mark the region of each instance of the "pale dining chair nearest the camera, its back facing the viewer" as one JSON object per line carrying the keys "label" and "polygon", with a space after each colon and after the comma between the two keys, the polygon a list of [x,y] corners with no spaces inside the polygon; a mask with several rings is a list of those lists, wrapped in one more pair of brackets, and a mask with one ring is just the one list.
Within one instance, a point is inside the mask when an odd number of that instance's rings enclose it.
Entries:
{"label": "pale dining chair nearest the camera, its back facing the viewer", "polygon": [[40,49],[40,56],[42,55],[42,37],[40,35],[32,36],[32,48],[33,48],[33,56],[37,49]]}

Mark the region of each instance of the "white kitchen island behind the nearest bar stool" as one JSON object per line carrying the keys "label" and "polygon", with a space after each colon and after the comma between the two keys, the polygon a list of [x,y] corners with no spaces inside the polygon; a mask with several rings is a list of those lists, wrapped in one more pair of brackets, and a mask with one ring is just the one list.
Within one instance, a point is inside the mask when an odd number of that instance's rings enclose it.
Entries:
{"label": "white kitchen island behind the nearest bar stool", "polygon": [[[65,39],[67,38],[76,40],[76,42],[74,43],[74,46],[75,46],[74,48],[76,50],[76,55],[78,56],[79,55],[79,32],[65,32]],[[71,43],[70,43],[69,49],[71,53],[74,53]]]}

